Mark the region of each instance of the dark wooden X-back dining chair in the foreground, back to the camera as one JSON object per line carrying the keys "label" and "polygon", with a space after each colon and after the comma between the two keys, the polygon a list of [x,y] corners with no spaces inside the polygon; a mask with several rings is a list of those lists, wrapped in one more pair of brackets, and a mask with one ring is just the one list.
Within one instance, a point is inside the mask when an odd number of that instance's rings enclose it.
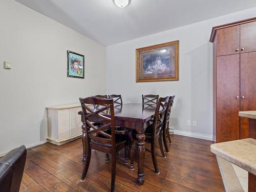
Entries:
{"label": "dark wooden X-back dining chair in the foreground, back to the camera", "polygon": [[[113,99],[102,99],[97,97],[79,98],[83,118],[85,119],[85,126],[82,130],[82,140],[86,142],[86,163],[83,168],[81,181],[86,178],[88,168],[91,160],[91,150],[100,151],[106,154],[111,154],[112,172],[111,172],[111,191],[115,190],[116,177],[116,153],[126,148],[125,159],[127,159],[127,146],[129,144],[129,130],[117,131],[115,130],[115,114]],[[91,109],[90,104],[105,105],[101,109]],[[102,115],[109,110],[109,117]],[[94,126],[92,122],[100,121],[102,126]],[[110,129],[109,129],[110,128]]]}

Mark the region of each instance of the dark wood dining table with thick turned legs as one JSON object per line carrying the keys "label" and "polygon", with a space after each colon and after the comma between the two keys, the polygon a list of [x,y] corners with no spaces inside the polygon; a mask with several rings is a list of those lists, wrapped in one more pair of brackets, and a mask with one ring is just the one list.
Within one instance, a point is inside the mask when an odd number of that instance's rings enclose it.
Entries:
{"label": "dark wood dining table with thick turned legs", "polygon": [[[145,135],[144,131],[146,127],[150,124],[150,120],[154,117],[154,108],[144,108],[142,103],[127,103],[122,105],[117,105],[115,109],[115,124],[116,126],[124,126],[129,129],[137,131],[136,134],[136,153],[137,153],[137,163],[138,163],[138,178],[137,183],[142,185],[145,181],[144,179],[144,158],[145,158]],[[86,126],[83,119],[83,112],[78,113],[81,115],[82,126]],[[104,116],[110,117],[108,114],[102,114]],[[97,122],[97,120],[95,120]],[[84,142],[84,141],[83,141]],[[83,143],[83,157],[86,156],[86,144]],[[85,158],[84,158],[85,160]]]}

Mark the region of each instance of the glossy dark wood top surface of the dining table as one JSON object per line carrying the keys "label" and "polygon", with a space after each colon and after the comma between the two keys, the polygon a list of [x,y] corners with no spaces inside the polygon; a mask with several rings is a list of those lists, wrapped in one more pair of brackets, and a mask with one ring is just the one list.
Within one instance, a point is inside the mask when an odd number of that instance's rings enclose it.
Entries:
{"label": "glossy dark wood top surface of the dining table", "polygon": [[[154,117],[155,108],[142,108],[142,103],[127,103],[114,106],[115,119],[134,121],[134,122],[146,122]],[[82,114],[79,112],[78,114]],[[106,115],[109,116],[109,115]]]}

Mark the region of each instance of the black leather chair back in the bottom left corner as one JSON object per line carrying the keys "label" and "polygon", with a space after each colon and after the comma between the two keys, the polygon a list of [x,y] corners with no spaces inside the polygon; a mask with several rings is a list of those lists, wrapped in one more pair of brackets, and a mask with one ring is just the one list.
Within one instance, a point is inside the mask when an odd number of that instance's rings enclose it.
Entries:
{"label": "black leather chair back in the bottom left corner", "polygon": [[27,150],[24,145],[15,148],[0,159],[0,191],[19,191]]}

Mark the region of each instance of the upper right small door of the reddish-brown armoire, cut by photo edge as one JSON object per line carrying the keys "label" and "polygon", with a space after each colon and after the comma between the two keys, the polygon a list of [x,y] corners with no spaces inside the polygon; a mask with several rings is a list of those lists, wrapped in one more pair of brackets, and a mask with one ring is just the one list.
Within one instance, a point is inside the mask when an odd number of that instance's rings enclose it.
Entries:
{"label": "upper right small door of the reddish-brown armoire, cut by photo edge", "polygon": [[241,53],[256,51],[256,22],[240,26]]}

